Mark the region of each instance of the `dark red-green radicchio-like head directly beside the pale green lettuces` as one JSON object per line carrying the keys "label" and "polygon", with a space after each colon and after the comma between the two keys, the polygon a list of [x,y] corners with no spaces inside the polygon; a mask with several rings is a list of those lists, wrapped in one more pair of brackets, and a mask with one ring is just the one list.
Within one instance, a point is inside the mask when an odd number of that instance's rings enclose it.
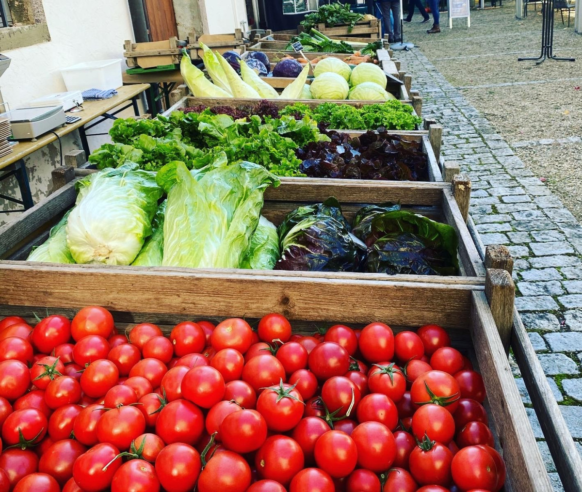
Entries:
{"label": "dark red-green radicchio-like head directly beside the pale green lettuces", "polygon": [[357,272],[365,259],[365,245],[350,232],[335,198],[290,212],[278,232],[282,254],[275,270]]}

